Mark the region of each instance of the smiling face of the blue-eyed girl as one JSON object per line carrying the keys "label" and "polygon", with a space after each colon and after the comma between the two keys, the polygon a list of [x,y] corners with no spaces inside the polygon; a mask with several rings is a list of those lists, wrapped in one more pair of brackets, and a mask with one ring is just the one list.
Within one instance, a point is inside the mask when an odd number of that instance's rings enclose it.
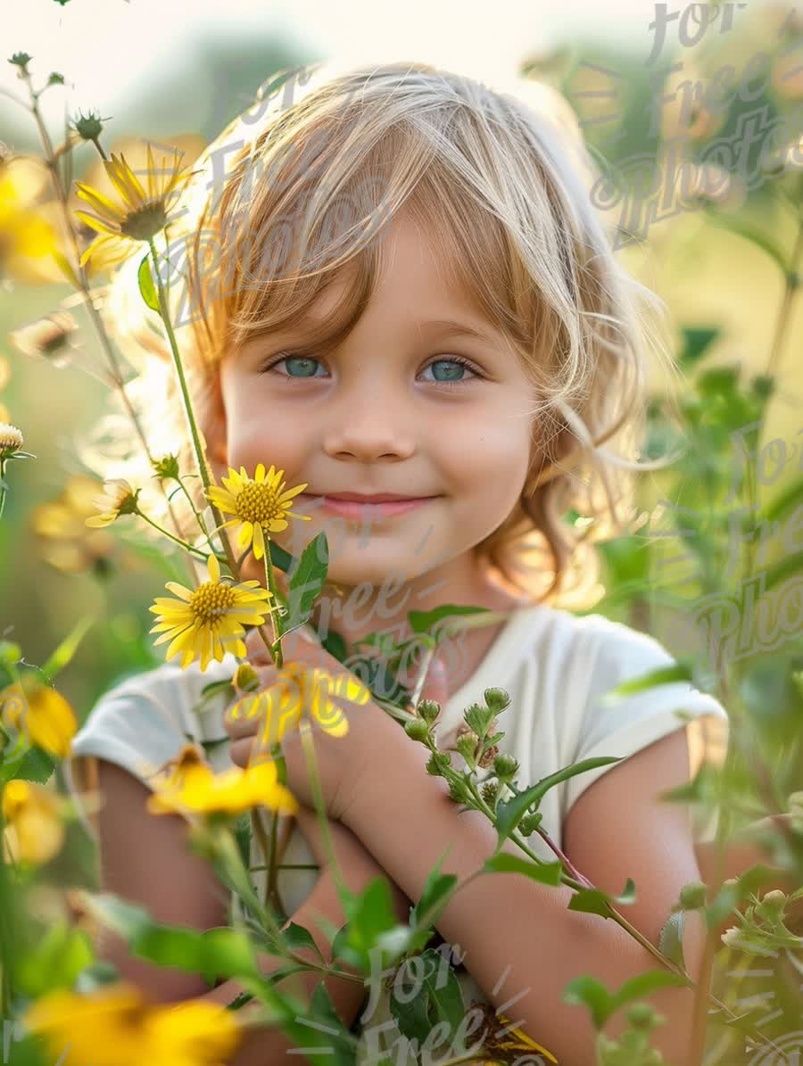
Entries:
{"label": "smiling face of the blue-eyed girl", "polygon": [[[347,586],[461,571],[516,504],[531,448],[534,389],[501,334],[445,282],[415,225],[397,217],[385,239],[386,274],[336,350],[305,357],[301,328],[286,329],[247,341],[220,370],[225,462],[250,477],[273,465],[287,488],[307,483],[293,510],[311,520],[290,518],[272,536],[299,554],[324,530],[328,580]],[[341,293],[334,281],[310,320]],[[421,502],[399,514],[321,508],[339,494]],[[258,577],[261,563],[250,555],[246,569]]]}

